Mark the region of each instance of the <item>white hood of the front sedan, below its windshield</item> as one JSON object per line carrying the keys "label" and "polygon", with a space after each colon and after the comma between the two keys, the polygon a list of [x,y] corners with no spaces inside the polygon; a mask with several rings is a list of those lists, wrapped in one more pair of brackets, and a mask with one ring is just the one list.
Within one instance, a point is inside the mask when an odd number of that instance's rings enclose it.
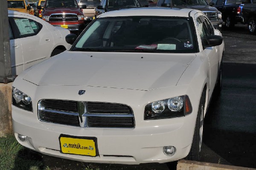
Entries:
{"label": "white hood of the front sedan, below its windshield", "polygon": [[36,85],[97,86],[150,90],[175,86],[195,54],[70,52],[30,69]]}

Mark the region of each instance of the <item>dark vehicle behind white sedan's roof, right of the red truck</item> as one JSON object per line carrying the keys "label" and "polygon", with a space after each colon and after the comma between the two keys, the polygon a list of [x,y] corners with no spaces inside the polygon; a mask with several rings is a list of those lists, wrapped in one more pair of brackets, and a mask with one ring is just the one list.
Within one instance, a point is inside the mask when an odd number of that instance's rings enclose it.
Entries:
{"label": "dark vehicle behind white sedan's roof, right of the red truck", "polygon": [[102,0],[96,8],[96,16],[104,12],[139,7],[141,5],[138,0]]}

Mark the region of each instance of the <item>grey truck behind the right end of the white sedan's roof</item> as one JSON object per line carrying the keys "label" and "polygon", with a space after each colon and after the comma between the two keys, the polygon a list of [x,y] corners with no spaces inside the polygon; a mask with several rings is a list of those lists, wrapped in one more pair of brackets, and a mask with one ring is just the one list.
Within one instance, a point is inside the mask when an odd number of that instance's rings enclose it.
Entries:
{"label": "grey truck behind the right end of the white sedan's roof", "polygon": [[219,12],[215,7],[209,6],[205,0],[158,0],[157,6],[171,7],[171,2],[172,7],[175,8],[190,8],[204,12],[214,28],[221,29],[223,23],[221,12]]}

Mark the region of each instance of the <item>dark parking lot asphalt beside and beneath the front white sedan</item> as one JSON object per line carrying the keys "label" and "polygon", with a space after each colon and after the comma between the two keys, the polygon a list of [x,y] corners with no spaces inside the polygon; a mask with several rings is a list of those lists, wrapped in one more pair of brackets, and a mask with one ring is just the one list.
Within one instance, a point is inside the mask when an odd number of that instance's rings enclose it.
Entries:
{"label": "dark parking lot asphalt beside and beneath the front white sedan", "polygon": [[[201,161],[256,168],[256,35],[249,35],[243,24],[221,32],[225,42],[222,91],[213,96],[205,117]],[[101,170],[175,169],[175,164],[87,164],[22,152],[51,170],[81,170],[87,165]]]}

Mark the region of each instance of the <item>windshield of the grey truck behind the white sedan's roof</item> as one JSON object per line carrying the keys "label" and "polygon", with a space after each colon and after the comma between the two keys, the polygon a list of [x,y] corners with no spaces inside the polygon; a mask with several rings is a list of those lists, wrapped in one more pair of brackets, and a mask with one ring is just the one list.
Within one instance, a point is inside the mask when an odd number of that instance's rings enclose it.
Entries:
{"label": "windshield of the grey truck behind the white sedan's roof", "polygon": [[[170,6],[171,0],[159,0],[157,6]],[[187,6],[187,5],[208,5],[205,0],[172,0],[173,6]]]}

